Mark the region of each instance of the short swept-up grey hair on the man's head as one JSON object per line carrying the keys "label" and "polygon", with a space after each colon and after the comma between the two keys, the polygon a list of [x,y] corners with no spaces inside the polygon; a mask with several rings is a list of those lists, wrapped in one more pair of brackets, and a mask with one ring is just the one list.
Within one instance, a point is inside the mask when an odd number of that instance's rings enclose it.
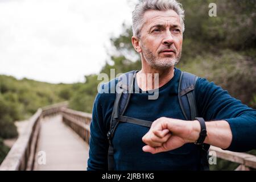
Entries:
{"label": "short swept-up grey hair on the man's head", "polygon": [[180,17],[182,32],[184,32],[185,15],[181,3],[176,0],[144,0],[140,1],[133,11],[133,35],[137,36],[137,38],[141,36],[141,28],[144,24],[143,16],[147,10],[174,10]]}

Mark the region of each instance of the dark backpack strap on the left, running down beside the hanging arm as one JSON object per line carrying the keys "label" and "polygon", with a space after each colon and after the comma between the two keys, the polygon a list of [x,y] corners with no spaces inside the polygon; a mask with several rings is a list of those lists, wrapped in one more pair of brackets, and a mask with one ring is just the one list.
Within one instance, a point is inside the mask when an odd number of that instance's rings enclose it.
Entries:
{"label": "dark backpack strap on the left, running down beside the hanging arm", "polygon": [[[138,71],[131,71],[121,75],[118,78],[117,90],[115,93],[114,107],[112,115],[110,118],[110,130],[108,131],[107,137],[109,140],[109,151],[108,151],[108,168],[109,171],[114,170],[114,147],[112,144],[112,138],[115,132],[115,129],[118,126],[118,116],[119,113],[123,114],[127,108],[131,97],[131,89],[133,89],[133,81],[135,73]],[[130,91],[130,92],[129,92]]]}

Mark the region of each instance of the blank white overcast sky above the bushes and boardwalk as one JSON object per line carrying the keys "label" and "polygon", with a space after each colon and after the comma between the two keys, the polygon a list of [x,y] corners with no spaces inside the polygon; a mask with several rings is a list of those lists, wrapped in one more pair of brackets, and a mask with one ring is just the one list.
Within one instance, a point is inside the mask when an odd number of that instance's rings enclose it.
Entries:
{"label": "blank white overcast sky above the bushes and boardwalk", "polygon": [[[98,73],[134,1],[0,0],[0,75],[52,83]],[[106,49],[107,47],[107,49]]]}

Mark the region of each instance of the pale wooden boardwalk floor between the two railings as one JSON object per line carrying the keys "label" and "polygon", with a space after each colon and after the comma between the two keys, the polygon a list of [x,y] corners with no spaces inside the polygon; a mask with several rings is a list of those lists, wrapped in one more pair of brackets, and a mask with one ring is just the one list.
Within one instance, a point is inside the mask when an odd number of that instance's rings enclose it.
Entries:
{"label": "pale wooden boardwalk floor between the two railings", "polygon": [[[47,117],[41,121],[35,170],[79,170],[87,168],[89,147],[79,135],[62,122],[61,115]],[[42,153],[46,154],[46,164],[39,164]]]}

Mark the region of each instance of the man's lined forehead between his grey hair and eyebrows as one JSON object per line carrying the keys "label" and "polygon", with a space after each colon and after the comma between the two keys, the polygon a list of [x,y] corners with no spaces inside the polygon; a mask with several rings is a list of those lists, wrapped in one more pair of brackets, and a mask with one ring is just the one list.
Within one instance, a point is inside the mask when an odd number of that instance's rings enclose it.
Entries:
{"label": "man's lined forehead between his grey hair and eyebrows", "polygon": [[147,10],[144,13],[144,24],[165,24],[171,22],[181,26],[179,15],[174,10],[158,11]]}

